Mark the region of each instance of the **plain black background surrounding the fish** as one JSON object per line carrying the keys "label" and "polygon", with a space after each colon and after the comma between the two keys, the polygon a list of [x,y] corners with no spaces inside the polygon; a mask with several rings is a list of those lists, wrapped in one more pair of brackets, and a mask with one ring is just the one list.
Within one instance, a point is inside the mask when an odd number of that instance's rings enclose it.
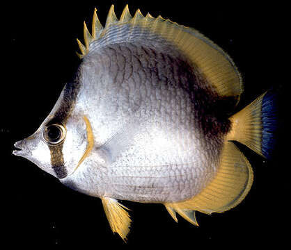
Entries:
{"label": "plain black background surrounding the fish", "polygon": [[[104,24],[115,5],[119,17],[125,4],[134,14],[162,15],[192,26],[219,44],[235,61],[244,78],[239,108],[269,88],[280,103],[278,146],[266,161],[242,147],[254,170],[251,192],[239,206],[222,214],[197,213],[200,226],[178,217],[175,223],[160,204],[124,201],[132,211],[127,247],[197,247],[215,242],[283,244],[289,239],[290,163],[288,117],[290,102],[281,69],[286,31],[286,6],[244,1],[213,4],[196,1],[36,1],[1,6],[1,234],[11,247],[122,246],[113,235],[100,199],[69,190],[56,178],[24,158],[12,155],[13,143],[31,135],[48,115],[77,65],[76,38],[82,40],[83,22],[91,27],[97,8]],[[278,70],[280,68],[281,70]],[[235,242],[235,243],[233,243]]]}

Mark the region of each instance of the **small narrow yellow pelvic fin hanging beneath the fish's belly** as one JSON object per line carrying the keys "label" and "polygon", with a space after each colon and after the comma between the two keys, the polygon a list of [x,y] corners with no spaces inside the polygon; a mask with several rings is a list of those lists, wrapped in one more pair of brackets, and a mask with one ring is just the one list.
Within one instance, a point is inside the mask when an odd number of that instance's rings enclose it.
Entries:
{"label": "small narrow yellow pelvic fin hanging beneath the fish's belly", "polygon": [[132,222],[129,218],[129,214],[125,210],[128,208],[118,203],[116,199],[108,197],[102,197],[102,205],[111,230],[113,233],[118,233],[118,235],[126,241],[127,234],[129,233],[129,226]]}

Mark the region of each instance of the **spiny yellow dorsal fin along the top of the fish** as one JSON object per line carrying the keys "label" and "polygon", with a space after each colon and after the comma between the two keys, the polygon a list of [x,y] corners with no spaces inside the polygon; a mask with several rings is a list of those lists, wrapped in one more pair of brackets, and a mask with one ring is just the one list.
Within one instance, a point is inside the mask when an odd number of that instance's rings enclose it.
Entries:
{"label": "spiny yellow dorsal fin along the top of the fish", "polygon": [[[123,29],[125,26],[128,28]],[[189,63],[220,96],[235,97],[237,101],[239,100],[243,90],[242,78],[233,60],[217,44],[214,44],[194,28],[179,25],[161,16],[154,18],[148,14],[144,17],[140,10],[136,10],[134,17],[132,17],[127,5],[119,20],[112,5],[104,28],[97,18],[95,9],[92,28],[92,35],[90,35],[86,24],[84,25],[85,45],[77,40],[81,50],[81,54],[78,53],[80,58],[89,53],[91,44],[92,47],[95,46],[93,45],[95,41],[102,40],[102,38],[104,38],[102,44],[113,44],[146,40],[148,35],[156,35],[170,42],[182,52],[188,58]]]}

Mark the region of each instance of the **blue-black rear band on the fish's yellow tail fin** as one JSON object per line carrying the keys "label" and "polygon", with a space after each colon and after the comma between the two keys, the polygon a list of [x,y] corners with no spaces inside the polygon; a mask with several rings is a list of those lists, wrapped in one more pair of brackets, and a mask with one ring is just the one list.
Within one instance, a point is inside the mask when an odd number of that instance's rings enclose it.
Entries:
{"label": "blue-black rear band on the fish's yellow tail fin", "polygon": [[269,90],[262,99],[262,154],[272,158],[278,131],[278,94]]}

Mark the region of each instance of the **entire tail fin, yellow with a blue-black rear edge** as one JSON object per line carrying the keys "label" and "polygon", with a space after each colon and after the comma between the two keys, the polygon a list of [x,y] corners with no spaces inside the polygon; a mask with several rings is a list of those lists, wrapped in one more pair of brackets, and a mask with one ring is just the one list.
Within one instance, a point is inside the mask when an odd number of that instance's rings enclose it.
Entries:
{"label": "entire tail fin, yellow with a blue-black rear edge", "polygon": [[278,128],[277,95],[267,91],[230,117],[232,128],[227,140],[235,140],[271,158]]}

